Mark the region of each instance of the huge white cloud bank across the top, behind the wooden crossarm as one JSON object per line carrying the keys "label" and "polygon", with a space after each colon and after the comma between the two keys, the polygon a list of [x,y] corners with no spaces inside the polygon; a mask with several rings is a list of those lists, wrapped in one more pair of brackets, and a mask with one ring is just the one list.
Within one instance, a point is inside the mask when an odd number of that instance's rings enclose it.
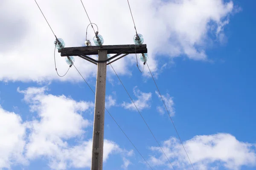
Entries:
{"label": "huge white cloud bank across the top, behind the wooden crossarm", "polygon": [[[134,26],[125,0],[83,2],[90,19],[99,26],[105,45],[134,44]],[[80,1],[38,0],[38,4],[55,34],[63,38],[67,47],[83,44],[89,21]],[[169,57],[185,54],[190,59],[206,59],[205,50],[212,40],[209,32],[224,35],[223,27],[227,26],[228,16],[234,12],[233,2],[225,3],[224,0],[130,0],[130,5],[138,33],[143,34],[147,43],[148,64],[152,71],[157,71],[156,54]],[[82,80],[74,68],[65,77],[56,75],[54,36],[35,2],[5,0],[0,6],[0,16],[0,57],[4,58],[0,62],[0,80]],[[93,31],[89,29],[88,38],[92,40],[92,37]],[[64,73],[68,68],[64,58],[57,54],[56,62],[59,73]],[[130,56],[113,65],[119,74],[131,74],[129,66],[134,63],[134,56]],[[96,65],[79,57],[75,64],[85,78],[96,75]]]}

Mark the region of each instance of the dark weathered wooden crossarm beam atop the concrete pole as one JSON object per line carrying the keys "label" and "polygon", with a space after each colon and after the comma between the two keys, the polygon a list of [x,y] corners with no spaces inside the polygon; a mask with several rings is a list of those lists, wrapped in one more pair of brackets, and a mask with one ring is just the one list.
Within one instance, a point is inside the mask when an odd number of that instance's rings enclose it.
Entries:
{"label": "dark weathered wooden crossarm beam atop the concrete pole", "polygon": [[[58,50],[62,57],[77,56],[78,53],[84,55],[97,55],[99,50],[107,50],[108,54],[118,54],[122,51],[123,54],[135,54],[135,45],[103,45],[100,46],[85,46],[85,47],[67,47]],[[136,53],[147,53],[147,45],[136,45]]]}

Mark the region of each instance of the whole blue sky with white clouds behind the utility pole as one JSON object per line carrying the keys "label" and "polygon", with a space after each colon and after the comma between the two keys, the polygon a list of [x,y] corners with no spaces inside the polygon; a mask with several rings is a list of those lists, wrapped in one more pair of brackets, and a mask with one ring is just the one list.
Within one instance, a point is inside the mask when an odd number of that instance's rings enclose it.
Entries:
{"label": "whole blue sky with white clouds behind the utility pole", "polygon": [[[83,46],[81,1],[37,2],[66,47]],[[256,169],[256,1],[129,2],[194,169]],[[126,0],[83,3],[104,45],[134,44]],[[2,0],[0,23],[0,170],[90,170],[93,92],[74,67],[56,74],[55,37],[34,0]],[[55,56],[63,75],[69,66]],[[77,56],[75,65],[95,90],[96,65]],[[105,106],[143,158],[153,170],[192,170],[148,67],[140,73],[134,54],[112,65],[163,149],[108,65]],[[105,112],[103,169],[151,170],[136,148]]]}

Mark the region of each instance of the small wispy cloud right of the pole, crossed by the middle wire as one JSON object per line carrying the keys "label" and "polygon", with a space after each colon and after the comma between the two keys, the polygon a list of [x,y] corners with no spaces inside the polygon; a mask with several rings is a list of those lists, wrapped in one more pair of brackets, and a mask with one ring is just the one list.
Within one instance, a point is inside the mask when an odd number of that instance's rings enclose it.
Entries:
{"label": "small wispy cloud right of the pole, crossed by the middle wire", "polygon": [[[138,99],[134,100],[135,105],[139,109],[139,111],[142,111],[145,108],[150,108],[149,102],[151,100],[151,93],[143,93],[137,87],[133,89],[134,96],[136,96]],[[137,109],[134,106],[134,103],[128,103],[128,102],[123,102],[122,107],[125,109],[130,109],[136,111]]]}

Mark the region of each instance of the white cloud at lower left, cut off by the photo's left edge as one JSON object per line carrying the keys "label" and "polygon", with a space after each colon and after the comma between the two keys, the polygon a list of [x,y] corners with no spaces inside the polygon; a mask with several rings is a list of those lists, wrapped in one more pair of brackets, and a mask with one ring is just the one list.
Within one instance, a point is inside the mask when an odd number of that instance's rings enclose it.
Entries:
{"label": "white cloud at lower left, cut off by the photo's left edge", "polygon": [[0,106],[0,169],[13,164],[26,164],[23,156],[26,126],[19,115],[3,110]]}

